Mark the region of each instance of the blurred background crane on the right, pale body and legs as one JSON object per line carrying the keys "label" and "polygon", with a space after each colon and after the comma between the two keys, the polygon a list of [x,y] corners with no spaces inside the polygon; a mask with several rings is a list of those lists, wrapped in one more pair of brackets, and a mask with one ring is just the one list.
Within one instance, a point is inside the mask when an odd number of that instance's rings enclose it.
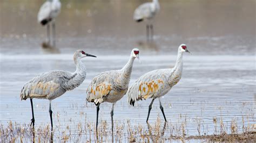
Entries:
{"label": "blurred background crane on the right, pale body and legs", "polygon": [[149,40],[150,37],[151,39],[153,39],[153,25],[151,20],[159,10],[160,5],[158,0],[153,0],[153,2],[148,2],[140,5],[134,11],[133,19],[136,20],[136,22],[142,22],[143,20],[146,20],[147,40]]}

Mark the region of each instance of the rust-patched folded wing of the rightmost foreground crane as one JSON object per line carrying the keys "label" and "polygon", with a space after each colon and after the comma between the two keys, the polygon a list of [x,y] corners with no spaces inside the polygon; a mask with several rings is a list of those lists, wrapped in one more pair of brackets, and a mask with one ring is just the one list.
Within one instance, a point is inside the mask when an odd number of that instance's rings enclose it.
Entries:
{"label": "rust-patched folded wing of the rightmost foreground crane", "polygon": [[139,77],[127,91],[128,102],[134,105],[134,102],[139,99],[152,98],[162,92],[169,86],[169,75],[171,75],[170,69],[158,69]]}

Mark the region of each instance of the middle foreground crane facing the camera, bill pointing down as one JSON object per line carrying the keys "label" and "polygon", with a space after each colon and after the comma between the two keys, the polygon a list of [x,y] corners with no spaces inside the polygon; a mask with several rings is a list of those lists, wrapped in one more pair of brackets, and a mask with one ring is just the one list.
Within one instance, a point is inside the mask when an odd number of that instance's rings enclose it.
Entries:
{"label": "middle foreground crane facing the camera, bill pointing down", "polygon": [[98,127],[99,105],[103,102],[109,102],[112,103],[111,121],[113,131],[114,104],[125,95],[129,87],[132,65],[136,58],[139,59],[139,49],[134,48],[132,49],[129,61],[122,69],[105,71],[97,75],[87,88],[86,101],[93,102],[97,106],[96,130]]}

